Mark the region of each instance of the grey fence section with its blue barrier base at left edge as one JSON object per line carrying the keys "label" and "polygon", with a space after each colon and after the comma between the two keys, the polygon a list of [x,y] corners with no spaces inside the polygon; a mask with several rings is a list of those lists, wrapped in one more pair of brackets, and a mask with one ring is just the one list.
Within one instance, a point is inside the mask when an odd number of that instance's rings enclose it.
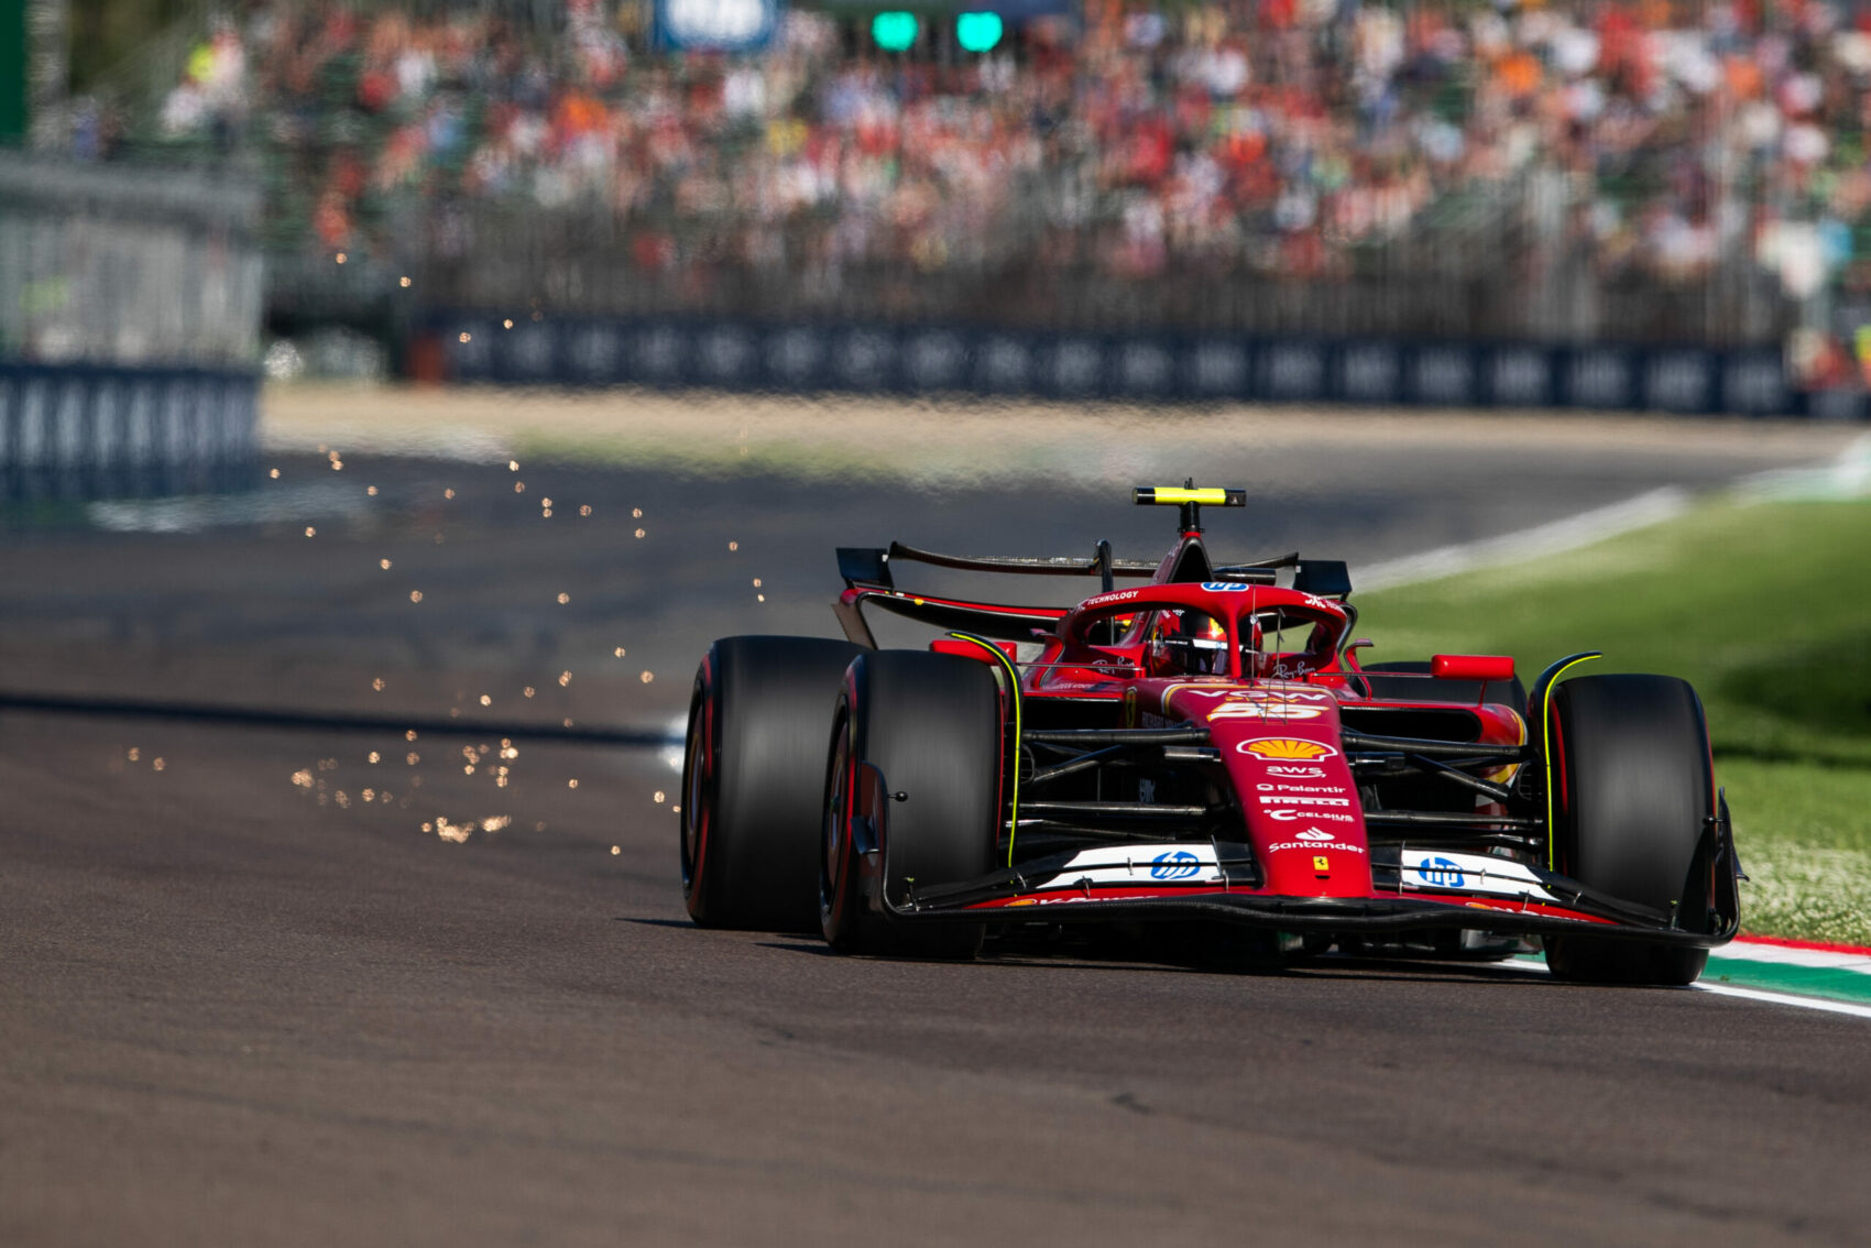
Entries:
{"label": "grey fence section with its blue barrier base at left edge", "polygon": [[258,210],[226,178],[0,153],[0,500],[251,477]]}

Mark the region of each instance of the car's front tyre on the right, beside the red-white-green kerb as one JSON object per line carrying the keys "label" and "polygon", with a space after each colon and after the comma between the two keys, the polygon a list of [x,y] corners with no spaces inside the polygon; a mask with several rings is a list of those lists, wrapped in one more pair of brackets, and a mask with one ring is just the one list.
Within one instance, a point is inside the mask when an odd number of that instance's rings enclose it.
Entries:
{"label": "car's front tyre on the right, beside the red-white-green kerb", "polygon": [[[1553,694],[1553,853],[1562,876],[1708,930],[1714,814],[1703,704],[1669,675],[1581,675]],[[1703,878],[1697,878],[1703,876]],[[1691,984],[1706,949],[1588,936],[1545,937],[1553,975],[1613,984]]]}

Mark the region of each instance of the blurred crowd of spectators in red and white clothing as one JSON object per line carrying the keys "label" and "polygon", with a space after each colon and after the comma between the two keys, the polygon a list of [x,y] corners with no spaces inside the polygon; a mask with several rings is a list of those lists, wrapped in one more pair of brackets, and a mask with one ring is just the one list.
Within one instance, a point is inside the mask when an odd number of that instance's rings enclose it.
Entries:
{"label": "blurred crowd of spectators in red and white clothing", "polygon": [[1609,279],[1871,286],[1871,7],[1843,0],[1085,0],[984,56],[803,9],[677,56],[634,4],[567,9],[260,0],[152,125],[256,146],[275,243],[329,253],[447,249],[492,208],[604,223],[644,269],[1330,277],[1506,206]]}

